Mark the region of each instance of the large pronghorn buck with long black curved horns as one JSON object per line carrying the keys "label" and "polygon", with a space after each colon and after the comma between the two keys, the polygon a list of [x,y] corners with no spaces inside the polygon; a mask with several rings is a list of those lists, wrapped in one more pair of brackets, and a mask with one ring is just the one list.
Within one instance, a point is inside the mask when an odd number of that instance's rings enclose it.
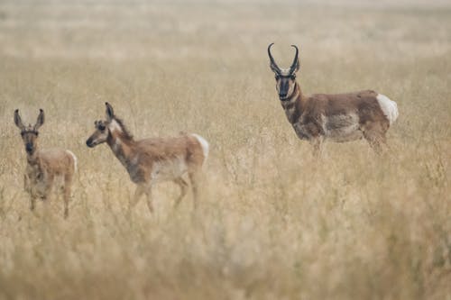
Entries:
{"label": "large pronghorn buck with long black curved horns", "polygon": [[398,118],[398,106],[386,95],[372,90],[349,94],[303,95],[296,72],[299,50],[290,68],[279,68],[268,46],[270,67],[275,73],[281,106],[299,139],[309,141],[318,154],[324,140],[336,142],[364,138],[377,153],[386,143],[385,133]]}

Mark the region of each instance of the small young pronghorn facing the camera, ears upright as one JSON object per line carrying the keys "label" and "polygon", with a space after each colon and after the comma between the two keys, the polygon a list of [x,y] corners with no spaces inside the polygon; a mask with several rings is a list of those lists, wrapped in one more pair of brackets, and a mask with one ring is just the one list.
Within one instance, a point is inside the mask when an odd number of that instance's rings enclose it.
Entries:
{"label": "small young pronghorn facing the camera, ears upright", "polygon": [[27,153],[27,167],[23,177],[25,191],[31,196],[30,209],[33,211],[36,198],[49,202],[55,181],[64,197],[64,217],[69,216],[69,198],[72,177],[77,169],[77,158],[69,150],[52,148],[38,150],[38,129],[44,123],[44,111],[40,109],[34,126],[22,123],[19,110],[14,111],[14,123],[21,130]]}

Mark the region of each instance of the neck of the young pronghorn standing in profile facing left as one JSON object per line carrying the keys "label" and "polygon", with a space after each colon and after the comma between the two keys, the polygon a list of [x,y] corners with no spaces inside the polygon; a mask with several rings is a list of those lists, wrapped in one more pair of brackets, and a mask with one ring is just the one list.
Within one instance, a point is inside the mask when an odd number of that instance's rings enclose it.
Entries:
{"label": "neck of the young pronghorn standing in profile facing left", "polygon": [[[115,120],[113,122],[115,122]],[[113,153],[115,153],[115,157],[126,166],[133,155],[134,141],[130,135],[125,133],[118,123],[113,123],[113,125],[110,126],[106,142]]]}

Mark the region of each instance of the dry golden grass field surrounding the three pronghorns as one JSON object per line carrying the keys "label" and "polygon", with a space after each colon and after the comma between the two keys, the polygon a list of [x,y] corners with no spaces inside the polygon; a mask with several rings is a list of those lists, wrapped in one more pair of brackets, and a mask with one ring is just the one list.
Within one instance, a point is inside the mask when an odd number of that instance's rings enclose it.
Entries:
{"label": "dry golden grass field surrounding the three pronghorns", "polygon": [[[446,1],[0,2],[0,299],[451,299],[451,4]],[[300,46],[305,93],[398,103],[391,150],[287,122],[266,54]],[[108,101],[135,137],[211,146],[199,209],[134,186],[106,145]],[[29,211],[14,109],[78,156],[68,220]]]}

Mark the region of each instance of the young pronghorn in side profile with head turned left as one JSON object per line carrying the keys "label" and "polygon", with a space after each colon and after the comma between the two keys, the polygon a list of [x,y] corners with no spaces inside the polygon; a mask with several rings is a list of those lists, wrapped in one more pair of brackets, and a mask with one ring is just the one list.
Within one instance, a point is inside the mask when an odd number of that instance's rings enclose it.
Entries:
{"label": "young pronghorn in side profile with head turned left", "polygon": [[106,121],[96,121],[96,131],[87,139],[87,147],[93,148],[106,142],[126,168],[136,190],[130,202],[135,206],[145,194],[147,206],[153,212],[152,186],[161,181],[173,181],[180,187],[175,202],[179,205],[187,194],[188,183],[183,175],[188,173],[197,205],[198,180],[202,165],[208,156],[208,142],[198,134],[183,134],[173,138],[151,138],[135,141],[121,119],[115,116],[113,107],[106,105]]}

